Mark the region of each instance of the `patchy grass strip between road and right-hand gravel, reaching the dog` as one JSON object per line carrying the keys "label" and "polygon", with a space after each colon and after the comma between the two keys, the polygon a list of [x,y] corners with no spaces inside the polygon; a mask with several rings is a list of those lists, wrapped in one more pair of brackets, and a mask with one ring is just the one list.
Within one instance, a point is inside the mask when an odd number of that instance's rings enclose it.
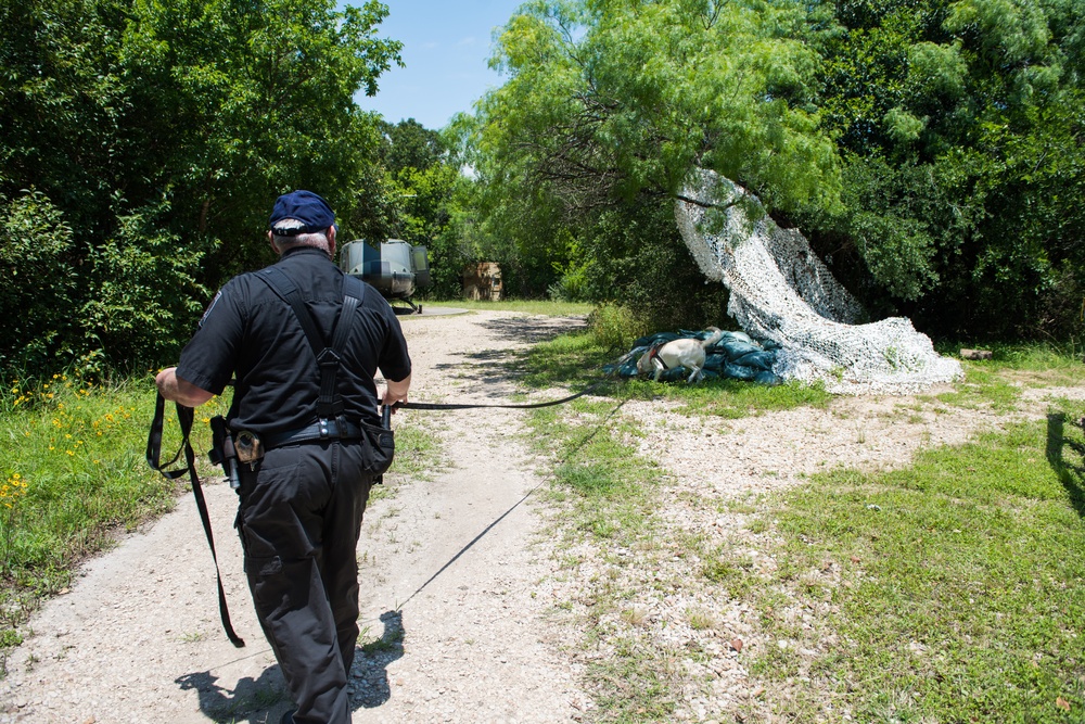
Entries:
{"label": "patchy grass strip between road and right-hand gravel, reaching the dog", "polygon": [[[599,367],[620,354],[590,332],[565,334],[532,347],[518,367],[525,370],[522,381],[527,386],[583,386],[599,380]],[[652,460],[638,455],[639,430],[621,416],[626,402],[660,399],[671,410],[675,409],[673,403],[678,403],[691,415],[742,417],[824,405],[829,399],[819,389],[769,388],[733,380],[698,385],[614,380],[597,394],[603,398],[533,412],[529,444],[552,460],[548,496],[560,509],[554,523],[556,535],[562,538],[560,545],[575,548],[579,542],[589,541],[610,570],[641,566],[647,571],[655,570],[652,561],[680,554],[693,544],[660,538],[665,526],[655,518],[655,511],[660,508],[660,484],[667,475]],[[583,562],[573,556],[565,566],[576,569]],[[707,575],[732,583],[745,581],[750,576],[744,567],[748,564],[739,563],[733,575],[724,568],[709,571]],[[682,583],[661,579],[650,585],[680,587]],[[588,664],[588,681],[600,712],[597,719],[673,721],[680,704],[681,666],[674,651],[660,646],[646,628],[643,612],[630,604],[638,592],[600,574],[588,582],[586,595],[590,604],[583,612],[585,646],[610,651],[605,657],[593,657]],[[706,627],[711,620],[694,611],[690,624]]]}

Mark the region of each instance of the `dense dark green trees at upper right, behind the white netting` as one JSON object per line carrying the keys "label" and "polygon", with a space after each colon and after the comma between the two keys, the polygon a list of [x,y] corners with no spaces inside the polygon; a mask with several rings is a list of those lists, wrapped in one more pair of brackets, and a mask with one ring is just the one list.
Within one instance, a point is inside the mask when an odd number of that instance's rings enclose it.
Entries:
{"label": "dense dark green trees at upper right, behind the white netting", "polygon": [[[1081,238],[1081,3],[840,1],[818,104],[842,213],[800,215],[876,306],[943,334],[1072,333]],[[858,259],[855,264],[848,259]],[[1062,290],[1059,292],[1058,290]],[[1056,318],[1061,321],[1056,321]],[[1078,326],[1080,329],[1080,326]]]}

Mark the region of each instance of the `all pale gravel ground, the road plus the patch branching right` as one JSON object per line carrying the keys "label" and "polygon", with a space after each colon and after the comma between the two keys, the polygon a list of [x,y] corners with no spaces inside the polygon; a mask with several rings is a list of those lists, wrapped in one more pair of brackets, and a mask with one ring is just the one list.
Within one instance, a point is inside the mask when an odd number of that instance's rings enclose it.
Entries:
{"label": "all pale gravel ground, the road plus the patch branching right", "polygon": [[[496,312],[406,318],[412,398],[503,399],[512,386],[501,361],[580,325]],[[743,515],[722,503],[751,499],[828,467],[906,465],[920,448],[1043,415],[1047,396],[1082,398],[1085,390],[1027,391],[1025,411],[1003,418],[910,397],[837,398],[825,410],[740,420],[685,416],[650,402],[628,402],[617,414],[638,422],[646,432],[641,454],[671,473],[659,501],[660,539],[697,531],[706,547],[749,550],[758,566],[770,566]],[[584,666],[607,656],[607,642],[582,651],[575,626],[577,613],[591,606],[584,592],[600,579],[639,592],[629,602],[637,636],[675,651],[695,644],[705,653],[678,666],[677,719],[733,721],[742,713],[771,720],[766,702],[773,693],[743,666],[742,651],[768,645],[757,639],[754,613],[691,586],[699,577],[690,573],[695,559],[614,566],[585,543],[562,551],[585,562],[558,571],[551,544],[539,536],[546,511],[532,496],[540,480],[520,440],[523,412],[405,411],[397,418],[396,427],[424,424],[437,434],[446,460],[429,480],[401,480],[394,495],[367,511],[359,544],[363,638],[383,636],[387,644],[356,660],[356,722],[580,720],[592,707]],[[231,529],[235,495],[220,481],[208,482],[227,597],[248,646],[234,649],[220,631],[214,568],[186,495],[174,512],[88,562],[71,592],[34,617],[34,635],[0,682],[0,724],[279,721],[291,704],[244,584]],[[617,551],[628,561],[637,556]],[[550,615],[558,602],[571,606],[562,618]],[[691,611],[713,625],[691,626]],[[630,628],[622,621],[614,627]]]}

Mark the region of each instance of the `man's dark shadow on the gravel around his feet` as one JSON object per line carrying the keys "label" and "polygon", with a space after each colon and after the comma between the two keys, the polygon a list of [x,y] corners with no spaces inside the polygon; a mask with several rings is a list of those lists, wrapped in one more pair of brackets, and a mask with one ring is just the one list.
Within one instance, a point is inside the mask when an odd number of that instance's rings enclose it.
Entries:
{"label": "man's dark shadow on the gravel around his feet", "polygon": [[[348,684],[354,711],[380,707],[392,698],[387,668],[404,655],[403,613],[385,611],[381,623],[381,637],[355,650]],[[294,708],[277,665],[264,670],[257,679],[245,676],[233,688],[220,685],[209,671],[186,674],[177,684],[182,691],[196,691],[200,711],[216,722],[278,724],[282,714]]]}

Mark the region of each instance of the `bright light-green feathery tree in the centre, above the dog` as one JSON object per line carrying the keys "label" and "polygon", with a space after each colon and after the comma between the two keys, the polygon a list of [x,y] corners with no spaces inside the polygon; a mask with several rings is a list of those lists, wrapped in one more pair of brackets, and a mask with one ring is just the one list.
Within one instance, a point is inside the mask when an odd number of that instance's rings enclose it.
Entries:
{"label": "bright light-green feathery tree in the centre, above the dog", "polygon": [[[634,262],[663,243],[646,220],[669,215],[674,249],[673,202],[695,166],[775,208],[838,205],[835,147],[809,103],[817,58],[792,37],[804,18],[775,2],[525,5],[494,61],[509,80],[464,132],[489,236],[513,240],[536,290],[644,300],[678,281]],[[621,276],[588,281],[604,274]]]}

